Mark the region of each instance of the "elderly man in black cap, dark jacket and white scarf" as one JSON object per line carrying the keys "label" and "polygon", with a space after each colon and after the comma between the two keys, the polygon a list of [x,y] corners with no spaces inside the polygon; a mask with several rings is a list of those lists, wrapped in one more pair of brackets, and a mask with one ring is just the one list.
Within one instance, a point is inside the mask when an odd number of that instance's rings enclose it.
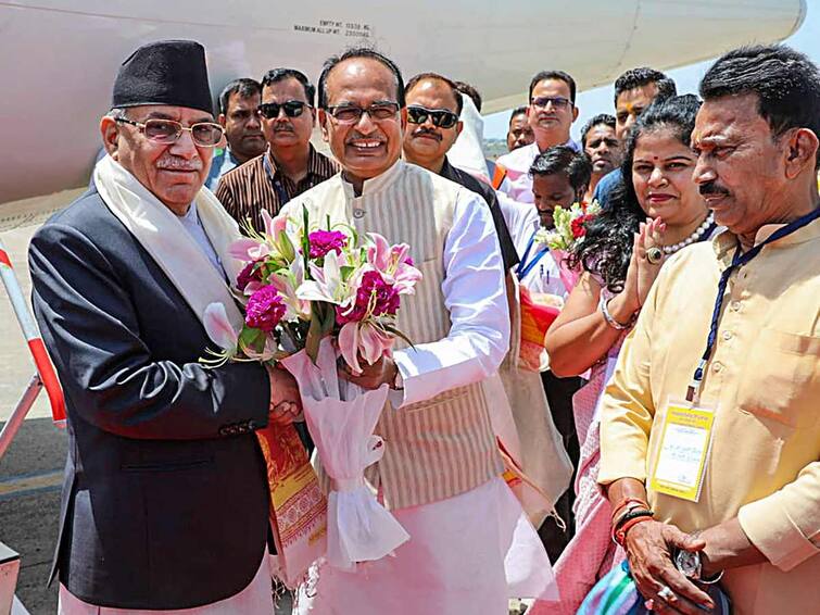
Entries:
{"label": "elderly man in black cap, dark jacket and white scarf", "polygon": [[[34,306],[68,410],[60,612],[273,611],[254,430],[298,412],[290,376],[204,368],[238,231],[201,190],[223,128],[204,49],[147,45],[119,68],[90,189],[34,237]],[[290,426],[288,426],[290,429]],[[111,610],[111,611],[110,611]]]}

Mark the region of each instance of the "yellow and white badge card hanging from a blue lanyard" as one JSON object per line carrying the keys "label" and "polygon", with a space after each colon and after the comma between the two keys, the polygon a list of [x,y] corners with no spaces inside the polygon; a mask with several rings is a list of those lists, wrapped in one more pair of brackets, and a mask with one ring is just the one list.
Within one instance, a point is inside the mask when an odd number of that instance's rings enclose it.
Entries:
{"label": "yellow and white badge card hanging from a blue lanyard", "polygon": [[670,403],[664,419],[657,463],[649,486],[691,502],[701,497],[711,447],[715,412],[685,403]]}

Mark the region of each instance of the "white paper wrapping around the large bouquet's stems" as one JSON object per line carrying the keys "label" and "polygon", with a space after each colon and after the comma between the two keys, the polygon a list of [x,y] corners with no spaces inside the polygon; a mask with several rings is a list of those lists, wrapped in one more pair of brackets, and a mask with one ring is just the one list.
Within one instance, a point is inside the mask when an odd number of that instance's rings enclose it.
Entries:
{"label": "white paper wrapping around the large bouquet's stems", "polygon": [[299,382],[305,422],[321,465],[332,479],[328,494],[327,561],[349,569],[356,562],[380,560],[409,535],[365,485],[365,468],[384,453],[373,430],[388,396],[388,386],[364,391],[339,380],[337,353],[321,340],[316,364],[304,351],[281,361]]}

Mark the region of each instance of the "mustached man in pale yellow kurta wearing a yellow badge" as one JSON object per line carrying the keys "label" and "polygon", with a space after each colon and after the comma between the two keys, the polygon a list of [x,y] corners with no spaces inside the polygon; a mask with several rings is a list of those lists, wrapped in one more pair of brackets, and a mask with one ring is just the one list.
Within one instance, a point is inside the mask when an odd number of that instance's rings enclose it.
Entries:
{"label": "mustached man in pale yellow kurta wearing a yellow badge", "polygon": [[[598,482],[655,612],[703,613],[719,580],[735,613],[813,613],[820,72],[747,47],[699,89],[694,179],[727,230],[672,256],[641,308],[601,410]],[[659,265],[654,239],[638,254]]]}

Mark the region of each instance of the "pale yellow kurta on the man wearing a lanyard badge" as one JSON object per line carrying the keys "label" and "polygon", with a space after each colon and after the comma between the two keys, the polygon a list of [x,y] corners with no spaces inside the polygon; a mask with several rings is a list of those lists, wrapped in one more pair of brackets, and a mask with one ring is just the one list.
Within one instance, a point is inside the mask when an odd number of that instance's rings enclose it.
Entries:
{"label": "pale yellow kurta on the man wearing a lanyard badge", "polygon": [[[660,272],[606,390],[600,482],[651,474],[664,403],[685,394],[736,244],[723,233]],[[735,613],[817,613],[820,221],[732,274],[701,399],[718,410],[699,502],[649,491],[656,518],[692,531],[739,516],[770,563],[726,572]]]}

